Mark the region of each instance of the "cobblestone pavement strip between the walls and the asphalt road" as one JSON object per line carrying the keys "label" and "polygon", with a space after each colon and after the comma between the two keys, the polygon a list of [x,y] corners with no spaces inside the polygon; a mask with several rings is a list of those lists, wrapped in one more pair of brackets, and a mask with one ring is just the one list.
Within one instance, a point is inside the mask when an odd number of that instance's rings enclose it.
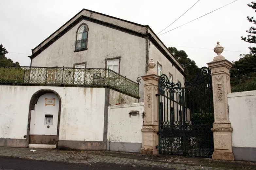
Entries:
{"label": "cobblestone pavement strip between the walls and the asphalt road", "polygon": [[[0,156],[5,157],[16,157],[23,159],[31,159],[31,160],[42,160],[42,161],[60,161],[67,163],[85,163],[85,164],[93,164],[93,163],[115,163],[115,164],[123,164],[123,165],[139,165],[139,166],[150,166],[150,167],[160,167],[166,169],[177,169],[177,170],[196,170],[196,169],[204,169],[204,170],[236,170],[236,169],[251,169],[243,168],[243,167],[235,167],[231,168],[228,166],[222,167],[221,165],[217,165],[215,167],[204,166],[204,165],[191,165],[191,164],[183,164],[183,163],[170,163],[166,161],[161,161],[161,159],[147,159],[147,155],[142,154],[133,154],[132,158],[127,158],[126,156],[122,156],[120,154],[115,154],[114,152],[109,152],[112,154],[106,154],[108,151],[81,151],[81,150],[58,150],[58,149],[35,149],[35,152],[30,151],[29,148],[4,148],[0,147]],[[123,154],[132,154],[132,153],[124,153]],[[254,164],[254,163],[252,163]],[[251,167],[255,167],[252,165]]]}

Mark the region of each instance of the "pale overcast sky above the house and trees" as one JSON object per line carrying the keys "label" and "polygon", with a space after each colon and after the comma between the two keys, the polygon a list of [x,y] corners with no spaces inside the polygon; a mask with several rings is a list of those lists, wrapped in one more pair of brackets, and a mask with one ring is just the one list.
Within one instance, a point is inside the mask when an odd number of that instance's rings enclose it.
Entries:
{"label": "pale overcast sky above the house and trees", "polygon": [[[0,0],[0,44],[9,51],[7,58],[22,66],[30,65],[31,49],[59,29],[83,8],[113,17],[149,25],[157,34],[198,0]],[[163,32],[196,19],[234,0],[200,0],[178,21]],[[207,66],[216,54],[217,41],[224,47],[222,55],[238,60],[247,54],[249,44],[241,40],[253,24],[247,16],[256,16],[247,4],[252,0],[238,0],[196,21],[188,23],[159,38],[167,47],[184,50],[198,67]],[[180,47],[182,46],[182,47]],[[188,48],[193,47],[193,48]],[[198,49],[203,48],[203,49]],[[210,50],[207,50],[210,49]],[[230,50],[230,51],[227,51]],[[237,52],[242,51],[242,52]],[[24,53],[24,54],[17,54]],[[61,59],[61,56],[58,56]],[[149,56],[150,57],[150,56]]]}

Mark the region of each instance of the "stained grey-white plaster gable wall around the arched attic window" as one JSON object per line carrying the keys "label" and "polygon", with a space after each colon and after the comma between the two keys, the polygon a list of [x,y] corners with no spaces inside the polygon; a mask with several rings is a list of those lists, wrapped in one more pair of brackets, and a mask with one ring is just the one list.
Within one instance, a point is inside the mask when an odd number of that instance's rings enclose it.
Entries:
{"label": "stained grey-white plaster gable wall around the arched attic window", "polygon": [[[88,50],[74,52],[76,31],[81,23],[89,27]],[[82,20],[32,59],[32,66],[73,67],[74,63],[87,62],[87,68],[105,68],[106,59],[121,57],[120,74],[136,81],[137,77],[145,75],[145,49],[145,38]],[[140,101],[144,101],[142,94],[143,83]]]}

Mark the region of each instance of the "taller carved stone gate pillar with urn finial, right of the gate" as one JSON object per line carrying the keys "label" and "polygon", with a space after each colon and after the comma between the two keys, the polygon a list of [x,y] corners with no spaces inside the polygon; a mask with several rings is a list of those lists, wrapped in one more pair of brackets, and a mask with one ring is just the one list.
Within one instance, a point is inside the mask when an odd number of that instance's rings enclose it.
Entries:
{"label": "taller carved stone gate pillar with urn finial, right of the gate", "polygon": [[231,138],[233,129],[229,121],[228,106],[228,93],[231,92],[229,70],[232,63],[221,55],[223,50],[224,48],[217,42],[214,52],[218,55],[214,57],[211,63],[207,63],[212,70],[213,82],[213,159],[234,160]]}

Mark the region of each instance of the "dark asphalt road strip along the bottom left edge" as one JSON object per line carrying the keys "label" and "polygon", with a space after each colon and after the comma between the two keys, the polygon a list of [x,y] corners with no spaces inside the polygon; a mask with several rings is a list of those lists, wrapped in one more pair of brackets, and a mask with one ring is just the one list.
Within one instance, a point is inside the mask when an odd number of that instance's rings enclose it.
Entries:
{"label": "dark asphalt road strip along the bottom left edge", "polygon": [[[125,164],[115,164],[115,163],[92,163],[92,164],[82,164],[82,163],[65,163],[56,161],[37,161],[37,160],[27,160],[20,158],[9,158],[0,157],[0,170],[167,170],[165,168],[158,168],[152,166],[138,166],[138,165],[125,165]],[[174,170],[174,169],[173,169]]]}

